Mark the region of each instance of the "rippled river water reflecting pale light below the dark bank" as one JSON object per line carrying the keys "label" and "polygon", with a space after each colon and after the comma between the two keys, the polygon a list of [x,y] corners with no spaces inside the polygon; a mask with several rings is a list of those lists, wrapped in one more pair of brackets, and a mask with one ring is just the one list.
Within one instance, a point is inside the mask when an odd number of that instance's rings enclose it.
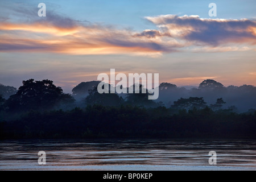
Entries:
{"label": "rippled river water reflecting pale light below the dark bank", "polygon": [[256,140],[2,140],[0,170],[256,170]]}

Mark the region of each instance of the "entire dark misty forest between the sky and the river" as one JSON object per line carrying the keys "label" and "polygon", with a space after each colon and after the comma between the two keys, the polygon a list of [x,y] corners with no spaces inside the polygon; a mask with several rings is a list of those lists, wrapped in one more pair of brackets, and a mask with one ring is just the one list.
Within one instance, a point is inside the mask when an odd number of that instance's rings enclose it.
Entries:
{"label": "entire dark misty forest between the sky and the river", "polygon": [[1,139],[256,138],[252,85],[204,80],[185,89],[162,83],[153,101],[147,92],[100,94],[98,81],[81,82],[73,94],[51,80],[22,83],[18,90],[0,85]]}

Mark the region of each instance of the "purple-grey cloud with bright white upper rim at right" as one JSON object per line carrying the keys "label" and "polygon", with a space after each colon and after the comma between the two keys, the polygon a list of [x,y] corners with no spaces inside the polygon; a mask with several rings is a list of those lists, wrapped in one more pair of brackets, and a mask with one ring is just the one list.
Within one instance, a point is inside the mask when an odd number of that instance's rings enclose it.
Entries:
{"label": "purple-grey cloud with bright white upper rim at right", "polygon": [[146,19],[170,36],[194,44],[209,46],[228,43],[256,44],[255,19],[203,19],[197,15],[147,16]]}

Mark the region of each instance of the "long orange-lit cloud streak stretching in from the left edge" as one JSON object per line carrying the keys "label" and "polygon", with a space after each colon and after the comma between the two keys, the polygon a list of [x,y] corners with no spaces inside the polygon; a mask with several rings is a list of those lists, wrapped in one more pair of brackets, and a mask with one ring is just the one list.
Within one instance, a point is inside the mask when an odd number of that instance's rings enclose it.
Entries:
{"label": "long orange-lit cloud streak stretching in from the left edge", "polygon": [[159,55],[176,51],[176,46],[179,47],[175,43],[167,45],[161,40],[143,39],[135,34],[137,32],[81,23],[60,16],[49,16],[31,23],[0,22],[0,51]]}

